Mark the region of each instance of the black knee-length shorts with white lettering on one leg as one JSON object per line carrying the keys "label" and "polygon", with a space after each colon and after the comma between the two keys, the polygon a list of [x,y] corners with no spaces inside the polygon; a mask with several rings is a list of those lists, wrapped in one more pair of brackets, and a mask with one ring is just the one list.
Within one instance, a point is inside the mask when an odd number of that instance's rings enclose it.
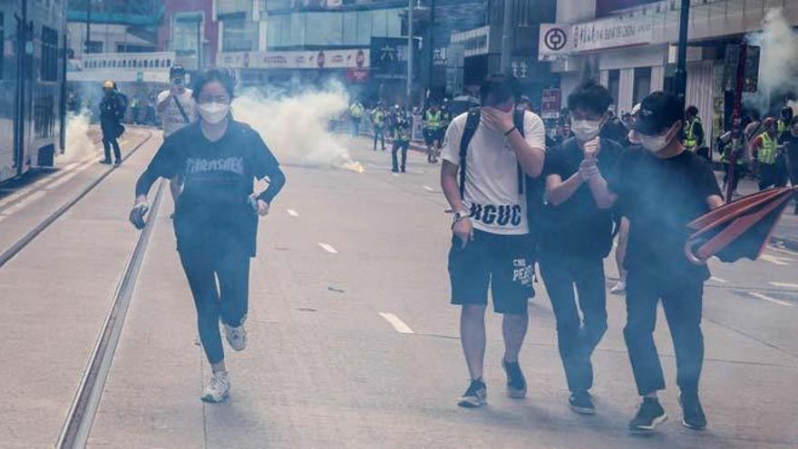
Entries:
{"label": "black knee-length shorts with white lettering on one leg", "polygon": [[532,288],[534,249],[529,236],[505,236],[474,229],[465,249],[452,238],[449,280],[452,304],[488,304],[488,290],[496,313],[525,315]]}

